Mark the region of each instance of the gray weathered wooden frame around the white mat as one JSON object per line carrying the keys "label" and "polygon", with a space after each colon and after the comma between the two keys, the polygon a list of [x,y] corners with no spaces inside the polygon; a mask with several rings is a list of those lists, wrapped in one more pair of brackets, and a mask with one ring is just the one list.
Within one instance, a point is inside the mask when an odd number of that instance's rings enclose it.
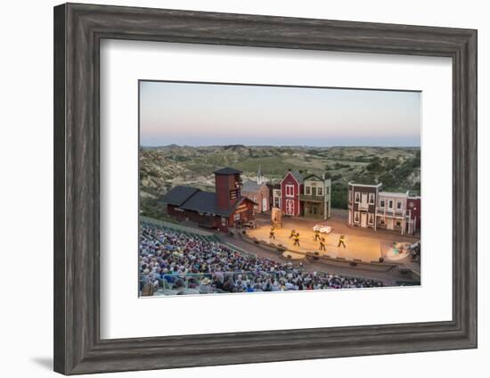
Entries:
{"label": "gray weathered wooden frame around the white mat", "polygon": [[[99,337],[102,38],[453,59],[453,320]],[[477,347],[477,31],[215,12],[54,8],[54,370],[89,374]]]}

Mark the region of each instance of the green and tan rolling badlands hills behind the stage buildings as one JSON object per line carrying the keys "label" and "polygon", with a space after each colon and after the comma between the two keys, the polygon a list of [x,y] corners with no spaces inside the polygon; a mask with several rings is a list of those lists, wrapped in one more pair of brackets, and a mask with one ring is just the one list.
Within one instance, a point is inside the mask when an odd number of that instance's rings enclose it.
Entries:
{"label": "green and tan rolling badlands hills behind the stage buildings", "polygon": [[262,174],[278,183],[288,169],[327,173],[332,181],[332,207],[347,208],[347,182],[382,182],[388,191],[420,194],[421,151],[399,147],[275,147],[169,145],[140,149],[141,212],[153,218],[161,212],[156,200],[175,185],[213,190],[216,168],[243,171],[243,179]]}

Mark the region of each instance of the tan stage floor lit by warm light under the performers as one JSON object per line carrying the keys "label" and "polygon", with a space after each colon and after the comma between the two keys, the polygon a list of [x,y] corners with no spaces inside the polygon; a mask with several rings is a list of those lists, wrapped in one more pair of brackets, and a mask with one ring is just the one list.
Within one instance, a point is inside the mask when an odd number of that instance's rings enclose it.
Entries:
{"label": "tan stage floor lit by warm light under the performers", "polygon": [[[385,230],[372,231],[358,227],[348,227],[344,219],[332,217],[327,221],[312,220],[307,218],[282,218],[282,228],[275,229],[275,240],[269,239],[271,230],[270,220],[267,216],[257,216],[257,228],[249,229],[247,234],[266,242],[281,243],[290,251],[306,253],[319,251],[322,255],[332,258],[360,259],[363,261],[378,261],[381,256],[388,257],[388,251],[393,242],[415,242],[414,236],[401,235]],[[313,226],[316,223],[326,222],[332,226],[330,234],[321,234],[326,240],[326,251],[320,251],[320,242],[314,241]],[[293,245],[294,239],[290,239],[290,232],[295,229],[299,233],[299,247]],[[346,248],[338,247],[339,236],[345,235]]]}

